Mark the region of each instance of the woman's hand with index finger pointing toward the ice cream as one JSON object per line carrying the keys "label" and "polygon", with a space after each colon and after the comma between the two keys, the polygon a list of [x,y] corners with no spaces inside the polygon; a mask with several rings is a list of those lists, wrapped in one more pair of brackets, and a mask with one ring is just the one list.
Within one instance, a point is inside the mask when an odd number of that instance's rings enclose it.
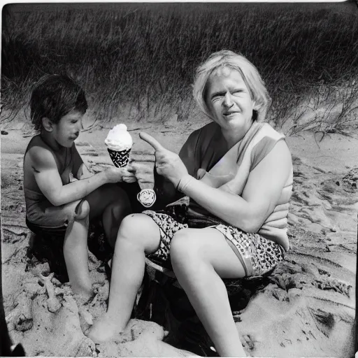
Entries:
{"label": "woman's hand with index finger pointing toward the ice cream", "polygon": [[141,132],[139,136],[143,141],[149,143],[155,149],[155,167],[157,173],[169,179],[175,187],[178,187],[180,179],[187,175],[187,168],[179,155],[165,149],[149,134]]}

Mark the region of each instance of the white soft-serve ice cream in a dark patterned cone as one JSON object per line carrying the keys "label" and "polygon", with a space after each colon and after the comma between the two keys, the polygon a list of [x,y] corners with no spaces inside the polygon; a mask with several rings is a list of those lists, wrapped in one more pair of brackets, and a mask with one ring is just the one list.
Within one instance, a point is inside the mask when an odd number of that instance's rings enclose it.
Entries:
{"label": "white soft-serve ice cream in a dark patterned cone", "polygon": [[129,152],[133,145],[133,140],[127,131],[127,126],[125,124],[117,124],[110,129],[104,143],[106,143],[108,147],[108,153],[113,164],[118,168],[127,166],[129,162]]}

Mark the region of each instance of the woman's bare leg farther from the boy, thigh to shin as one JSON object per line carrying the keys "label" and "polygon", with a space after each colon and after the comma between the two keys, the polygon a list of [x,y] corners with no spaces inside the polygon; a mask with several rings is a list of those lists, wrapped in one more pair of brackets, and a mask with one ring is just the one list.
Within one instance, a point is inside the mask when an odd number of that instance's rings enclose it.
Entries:
{"label": "woman's bare leg farther from the boy, thigh to shin", "polygon": [[171,241],[178,282],[222,357],[246,357],[221,278],[241,278],[238,257],[216,229],[182,229]]}

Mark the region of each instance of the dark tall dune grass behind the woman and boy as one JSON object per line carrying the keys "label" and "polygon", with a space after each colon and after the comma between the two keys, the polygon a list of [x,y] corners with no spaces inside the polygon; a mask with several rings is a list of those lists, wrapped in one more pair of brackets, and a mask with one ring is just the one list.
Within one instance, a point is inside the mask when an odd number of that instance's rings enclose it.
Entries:
{"label": "dark tall dune grass behind the woman and boy", "polygon": [[[85,88],[96,125],[197,115],[194,69],[210,53],[248,57],[288,133],[357,127],[358,17],[332,6],[248,3],[13,4],[3,8],[2,122],[27,108],[45,73]],[[26,113],[26,110],[25,110]]]}

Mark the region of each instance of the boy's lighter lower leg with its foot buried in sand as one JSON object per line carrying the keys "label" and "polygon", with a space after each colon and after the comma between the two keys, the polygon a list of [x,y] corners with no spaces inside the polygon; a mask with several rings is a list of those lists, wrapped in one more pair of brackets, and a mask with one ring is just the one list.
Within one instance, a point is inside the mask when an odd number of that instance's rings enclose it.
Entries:
{"label": "boy's lighter lower leg with its foot buried in sand", "polygon": [[71,203],[71,206],[74,204],[76,214],[69,222],[64,237],[64,260],[73,292],[87,300],[93,293],[87,252],[90,205],[85,200]]}

